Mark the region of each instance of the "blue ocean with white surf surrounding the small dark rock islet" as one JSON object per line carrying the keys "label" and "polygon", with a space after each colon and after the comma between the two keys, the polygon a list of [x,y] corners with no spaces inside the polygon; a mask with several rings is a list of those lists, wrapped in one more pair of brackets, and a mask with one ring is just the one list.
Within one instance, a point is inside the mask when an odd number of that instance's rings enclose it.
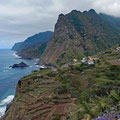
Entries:
{"label": "blue ocean with white surf surrounding the small dark rock islet", "polygon": [[[29,65],[29,67],[9,68],[9,66],[22,61]],[[20,59],[11,50],[0,50],[0,117],[5,113],[6,105],[14,98],[18,80],[30,74],[32,70],[38,69],[35,63],[37,63],[37,59]]]}

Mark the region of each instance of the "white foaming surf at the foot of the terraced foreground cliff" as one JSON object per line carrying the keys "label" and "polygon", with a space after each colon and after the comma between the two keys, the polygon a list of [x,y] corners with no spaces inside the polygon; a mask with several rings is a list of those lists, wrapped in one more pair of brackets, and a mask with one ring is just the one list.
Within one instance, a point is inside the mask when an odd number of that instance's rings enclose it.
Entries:
{"label": "white foaming surf at the foot of the terraced foreground cliff", "polygon": [[6,111],[6,106],[14,99],[14,95],[10,95],[0,102],[0,117],[2,117]]}

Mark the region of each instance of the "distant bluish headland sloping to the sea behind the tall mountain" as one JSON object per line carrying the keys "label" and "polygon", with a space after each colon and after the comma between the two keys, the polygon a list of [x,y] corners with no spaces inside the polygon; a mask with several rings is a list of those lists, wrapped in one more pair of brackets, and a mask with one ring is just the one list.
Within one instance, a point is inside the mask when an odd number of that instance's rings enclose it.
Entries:
{"label": "distant bluish headland sloping to the sea behind the tall mountain", "polygon": [[48,40],[52,37],[53,32],[41,32],[27,38],[24,42],[16,43],[12,50],[17,51],[18,55],[23,58],[39,57],[44,49]]}

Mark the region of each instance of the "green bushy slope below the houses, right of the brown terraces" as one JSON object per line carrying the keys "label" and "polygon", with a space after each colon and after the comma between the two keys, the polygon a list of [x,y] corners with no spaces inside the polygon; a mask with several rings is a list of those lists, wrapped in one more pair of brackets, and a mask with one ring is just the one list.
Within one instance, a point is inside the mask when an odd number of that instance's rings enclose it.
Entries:
{"label": "green bushy slope below the houses, right of the brown terraces", "polygon": [[76,65],[60,72],[62,85],[56,89],[77,98],[72,118],[94,118],[120,103],[120,66],[100,62],[101,65]]}

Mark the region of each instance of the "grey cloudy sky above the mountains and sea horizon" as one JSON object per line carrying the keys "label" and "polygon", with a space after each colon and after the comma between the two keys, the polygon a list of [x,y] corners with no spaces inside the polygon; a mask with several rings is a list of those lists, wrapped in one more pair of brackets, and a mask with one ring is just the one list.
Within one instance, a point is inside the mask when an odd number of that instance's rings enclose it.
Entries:
{"label": "grey cloudy sky above the mountains and sea horizon", "polygon": [[61,13],[91,8],[120,17],[120,0],[0,0],[0,49],[36,33],[54,31]]}

